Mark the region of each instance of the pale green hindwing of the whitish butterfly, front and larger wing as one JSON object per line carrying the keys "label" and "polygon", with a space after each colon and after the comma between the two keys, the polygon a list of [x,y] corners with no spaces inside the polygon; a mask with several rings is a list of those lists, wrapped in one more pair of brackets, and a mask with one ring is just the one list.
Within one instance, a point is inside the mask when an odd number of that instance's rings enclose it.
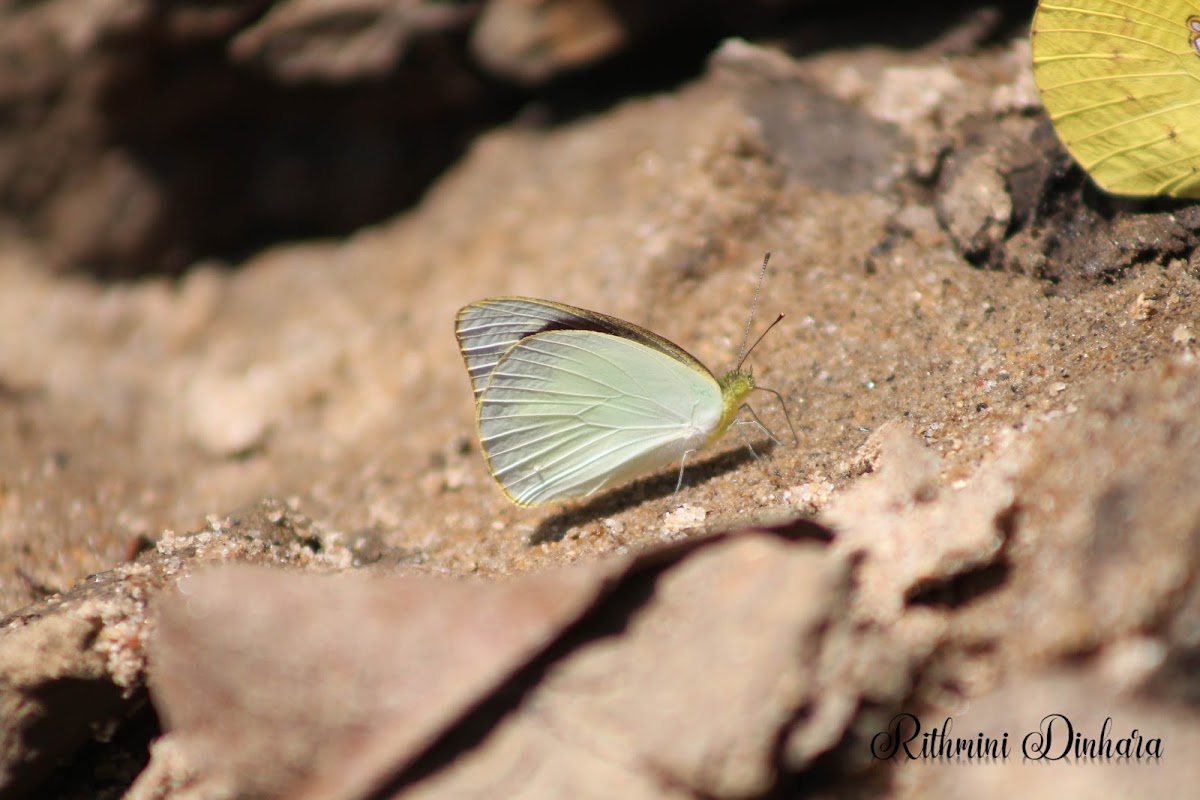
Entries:
{"label": "pale green hindwing of the whitish butterfly, front and larger wing", "polygon": [[488,469],[515,503],[533,505],[678,461],[707,444],[722,415],[716,379],[692,362],[593,330],[518,339],[480,392]]}

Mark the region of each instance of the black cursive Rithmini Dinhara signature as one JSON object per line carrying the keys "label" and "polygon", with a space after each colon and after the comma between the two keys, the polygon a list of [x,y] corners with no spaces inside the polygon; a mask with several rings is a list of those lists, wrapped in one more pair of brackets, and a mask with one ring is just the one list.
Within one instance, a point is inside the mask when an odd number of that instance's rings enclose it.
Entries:
{"label": "black cursive Rithmini Dinhara signature", "polygon": [[[1127,735],[1112,730],[1112,717],[1106,717],[1098,729],[1085,732],[1064,714],[1048,714],[1038,727],[1028,733],[1009,736],[988,735],[954,736],[954,721],[946,717],[936,728],[923,728],[914,714],[898,714],[892,717],[887,730],[871,738],[871,756],[877,759],[961,759],[967,762],[995,763],[1007,760],[1014,747],[1025,760],[1031,762],[1086,762],[1086,760],[1154,760],[1163,757],[1163,740],[1148,736],[1138,728]],[[1016,742],[1016,744],[1014,744]]]}

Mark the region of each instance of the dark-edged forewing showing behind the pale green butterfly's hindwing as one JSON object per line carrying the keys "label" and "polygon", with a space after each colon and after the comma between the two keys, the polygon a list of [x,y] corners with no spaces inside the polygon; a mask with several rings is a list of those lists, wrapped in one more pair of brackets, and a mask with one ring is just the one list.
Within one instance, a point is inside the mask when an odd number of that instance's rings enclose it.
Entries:
{"label": "dark-edged forewing showing behind the pale green butterfly's hindwing", "polygon": [[638,342],[695,369],[708,369],[683,348],[644,327],[586,308],[533,297],[492,297],[464,306],[455,320],[458,349],[479,402],[496,365],[523,338],[550,331],[610,333]]}

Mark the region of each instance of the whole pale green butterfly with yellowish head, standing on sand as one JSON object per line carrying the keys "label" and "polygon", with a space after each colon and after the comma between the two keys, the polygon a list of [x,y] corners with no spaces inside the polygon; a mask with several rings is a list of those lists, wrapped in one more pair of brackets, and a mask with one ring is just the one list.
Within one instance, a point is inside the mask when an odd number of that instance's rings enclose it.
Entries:
{"label": "whole pale green butterfly with yellowish head, standing on sand", "polygon": [[458,312],[492,476],[518,505],[586,497],[702,450],[754,390],[637,325],[532,297]]}

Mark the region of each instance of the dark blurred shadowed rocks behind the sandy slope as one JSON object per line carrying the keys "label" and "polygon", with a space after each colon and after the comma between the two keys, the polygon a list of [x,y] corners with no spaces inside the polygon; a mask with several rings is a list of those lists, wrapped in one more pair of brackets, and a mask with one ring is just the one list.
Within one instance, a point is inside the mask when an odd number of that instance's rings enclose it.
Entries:
{"label": "dark blurred shadowed rocks behind the sandy slope", "polygon": [[794,55],[1002,41],[1032,2],[224,0],[0,10],[0,224],[107,277],[235,263],[418,203],[492,126]]}

